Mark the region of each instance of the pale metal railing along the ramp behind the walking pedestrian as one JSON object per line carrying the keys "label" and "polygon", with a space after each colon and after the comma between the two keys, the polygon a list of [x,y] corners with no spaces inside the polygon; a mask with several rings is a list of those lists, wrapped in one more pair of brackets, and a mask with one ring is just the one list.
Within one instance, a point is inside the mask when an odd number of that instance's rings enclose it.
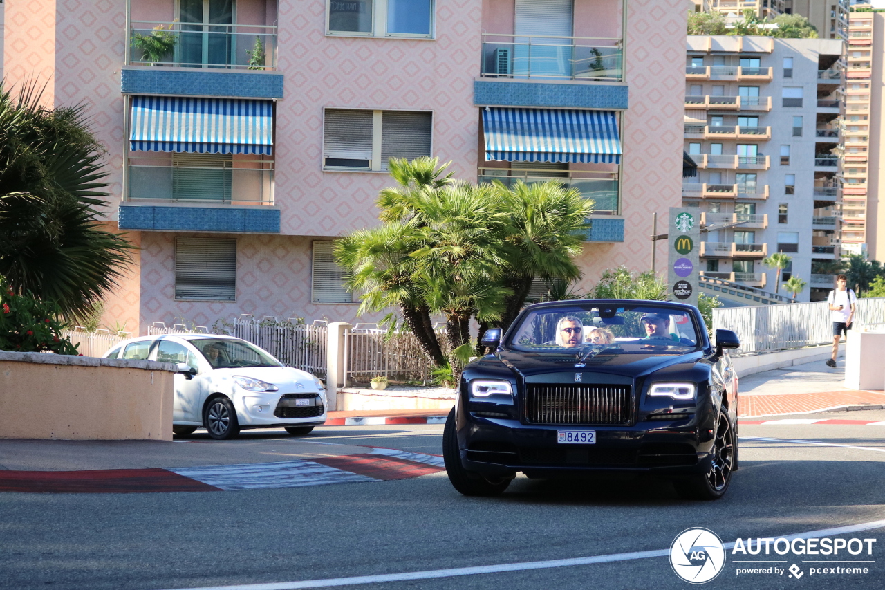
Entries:
{"label": "pale metal railing along the ramp behind the walking pedestrian", "polygon": [[[858,299],[853,330],[885,322],[885,298]],[[734,330],[738,353],[761,353],[833,342],[833,322],[826,301],[779,306],[720,307],[713,310],[713,330]]]}

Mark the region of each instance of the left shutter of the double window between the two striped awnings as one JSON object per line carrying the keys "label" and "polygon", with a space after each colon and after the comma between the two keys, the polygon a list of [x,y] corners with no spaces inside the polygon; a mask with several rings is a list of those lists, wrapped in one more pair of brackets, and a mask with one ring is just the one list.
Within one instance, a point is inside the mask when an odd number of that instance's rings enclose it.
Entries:
{"label": "left shutter of the double window between the two striped awnings", "polygon": [[[369,167],[372,159],[372,111],[326,109],[323,158],[327,166]],[[335,160],[350,160],[335,162]],[[354,161],[356,160],[356,161]],[[359,162],[365,161],[365,164]]]}

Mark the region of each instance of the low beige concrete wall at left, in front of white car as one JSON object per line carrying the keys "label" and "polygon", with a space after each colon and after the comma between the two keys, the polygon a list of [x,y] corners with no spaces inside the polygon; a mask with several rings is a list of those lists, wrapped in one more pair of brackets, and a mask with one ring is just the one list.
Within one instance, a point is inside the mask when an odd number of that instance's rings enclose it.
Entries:
{"label": "low beige concrete wall at left, in front of white car", "polygon": [[172,440],[174,369],[0,352],[0,439]]}

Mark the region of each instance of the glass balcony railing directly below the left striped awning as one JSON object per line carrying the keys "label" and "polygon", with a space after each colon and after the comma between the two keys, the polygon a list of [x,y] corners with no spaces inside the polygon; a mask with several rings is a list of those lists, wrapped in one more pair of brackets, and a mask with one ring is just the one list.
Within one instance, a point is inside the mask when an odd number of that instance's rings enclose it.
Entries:
{"label": "glass balcony railing directly below the left striped awning", "polygon": [[[267,167],[269,163],[255,165]],[[273,170],[130,164],[127,200],[273,205]]]}

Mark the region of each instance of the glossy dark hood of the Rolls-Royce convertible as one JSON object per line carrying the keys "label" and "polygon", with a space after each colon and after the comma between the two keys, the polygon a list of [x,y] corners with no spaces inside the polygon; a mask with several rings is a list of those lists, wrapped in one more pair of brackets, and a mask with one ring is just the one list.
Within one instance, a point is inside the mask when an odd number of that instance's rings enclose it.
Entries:
{"label": "glossy dark hood of the Rolls-Royce convertible", "polygon": [[[523,377],[542,373],[609,373],[641,377],[666,368],[686,369],[704,357],[703,351],[685,354],[598,354],[579,361],[573,354],[538,354],[501,351],[498,358]],[[582,366],[581,366],[582,363]]]}

